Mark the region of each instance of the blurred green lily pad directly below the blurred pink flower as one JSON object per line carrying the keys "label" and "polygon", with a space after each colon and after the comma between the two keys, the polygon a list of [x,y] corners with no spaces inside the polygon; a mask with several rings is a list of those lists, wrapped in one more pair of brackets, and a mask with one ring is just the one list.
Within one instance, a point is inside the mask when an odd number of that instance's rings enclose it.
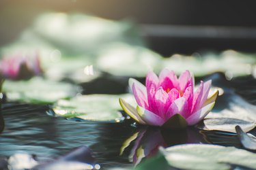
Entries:
{"label": "blurred green lily pad directly below the blurred pink flower", "polygon": [[79,86],[42,78],[32,78],[27,81],[6,80],[3,83],[3,92],[9,101],[45,104],[74,97],[79,92]]}

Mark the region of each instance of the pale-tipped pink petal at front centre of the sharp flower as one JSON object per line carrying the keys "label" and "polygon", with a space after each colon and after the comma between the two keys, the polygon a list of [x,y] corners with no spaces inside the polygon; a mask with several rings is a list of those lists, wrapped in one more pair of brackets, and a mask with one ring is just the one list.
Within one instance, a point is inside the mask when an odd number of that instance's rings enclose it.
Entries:
{"label": "pale-tipped pink petal at front centre of the sharp flower", "polygon": [[184,97],[180,97],[171,103],[166,114],[166,119],[168,120],[175,114],[181,114],[186,118],[186,115],[188,114],[188,103]]}

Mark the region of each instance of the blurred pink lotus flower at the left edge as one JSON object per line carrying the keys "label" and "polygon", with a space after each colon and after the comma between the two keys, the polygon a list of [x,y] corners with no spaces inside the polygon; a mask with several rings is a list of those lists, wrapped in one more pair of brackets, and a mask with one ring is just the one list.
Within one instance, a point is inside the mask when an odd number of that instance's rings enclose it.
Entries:
{"label": "blurred pink lotus flower at the left edge", "polygon": [[27,79],[33,75],[40,75],[40,58],[35,56],[20,56],[19,54],[3,58],[0,61],[0,73],[3,78],[12,80]]}

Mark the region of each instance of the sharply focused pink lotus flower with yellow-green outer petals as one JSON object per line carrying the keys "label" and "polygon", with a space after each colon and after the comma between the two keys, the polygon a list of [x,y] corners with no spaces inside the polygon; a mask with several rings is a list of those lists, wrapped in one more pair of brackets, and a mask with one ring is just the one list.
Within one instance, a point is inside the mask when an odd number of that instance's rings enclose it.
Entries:
{"label": "sharply focused pink lotus flower with yellow-green outer petals", "polygon": [[137,108],[124,99],[119,99],[119,103],[139,124],[184,128],[197,124],[214,106],[218,90],[208,96],[211,84],[211,80],[201,81],[194,91],[194,78],[189,71],[184,71],[179,78],[169,69],[163,69],[159,77],[150,71],[145,86],[132,78],[129,80]]}

